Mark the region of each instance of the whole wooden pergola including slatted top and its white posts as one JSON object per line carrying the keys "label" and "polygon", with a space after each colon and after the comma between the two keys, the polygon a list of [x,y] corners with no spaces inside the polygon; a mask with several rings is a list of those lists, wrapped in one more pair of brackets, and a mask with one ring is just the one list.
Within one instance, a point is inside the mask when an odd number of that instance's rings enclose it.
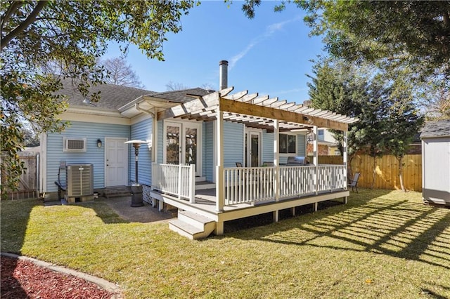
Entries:
{"label": "whole wooden pergola including slatted top and its white posts", "polygon": [[[231,91],[233,91],[233,87],[225,88],[157,114],[158,120],[181,118],[197,121],[217,121],[217,211],[223,211],[224,208],[224,188],[220,187],[221,183],[224,182],[224,121],[238,122],[251,128],[261,128],[274,132],[274,166],[276,169],[279,168],[279,132],[311,130],[314,141],[313,164],[318,165],[316,137],[318,128],[343,131],[343,158],[344,164],[347,166],[348,126],[358,119],[327,110],[297,105],[295,102],[269,98],[268,95],[248,94],[248,91],[230,94]],[[278,183],[275,181],[275,185]]]}

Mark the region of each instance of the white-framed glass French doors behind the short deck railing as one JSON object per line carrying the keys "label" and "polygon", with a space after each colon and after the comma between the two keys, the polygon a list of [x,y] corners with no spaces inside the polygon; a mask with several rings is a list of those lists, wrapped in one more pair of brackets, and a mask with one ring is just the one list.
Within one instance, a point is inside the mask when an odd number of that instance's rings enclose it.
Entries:
{"label": "white-framed glass French doors behind the short deck railing", "polygon": [[202,175],[202,124],[188,121],[165,121],[165,164],[195,164],[195,175]]}

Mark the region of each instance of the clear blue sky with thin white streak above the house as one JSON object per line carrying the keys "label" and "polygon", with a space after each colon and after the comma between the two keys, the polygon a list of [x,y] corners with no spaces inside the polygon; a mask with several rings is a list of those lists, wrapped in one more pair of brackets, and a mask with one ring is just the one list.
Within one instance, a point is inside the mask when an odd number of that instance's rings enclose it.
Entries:
{"label": "clear blue sky with thin white streak above the house", "polygon": [[[127,61],[146,89],[166,91],[169,81],[187,87],[219,88],[219,61],[229,61],[234,91],[270,95],[301,104],[308,99],[309,61],[323,53],[320,37],[309,37],[304,11],[288,5],[274,12],[276,1],[262,1],[256,16],[245,17],[243,2],[202,1],[181,18],[183,30],[167,35],[165,61],[150,60],[131,47]],[[104,58],[120,55],[112,46]]]}

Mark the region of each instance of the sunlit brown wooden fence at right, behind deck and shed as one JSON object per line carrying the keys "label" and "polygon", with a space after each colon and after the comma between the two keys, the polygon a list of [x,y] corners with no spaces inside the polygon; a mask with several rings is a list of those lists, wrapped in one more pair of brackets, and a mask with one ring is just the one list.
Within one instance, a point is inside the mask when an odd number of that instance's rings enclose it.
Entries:
{"label": "sunlit brown wooden fence at right, behind deck and shed", "polygon": [[[422,155],[406,154],[403,159],[403,183],[406,190],[422,192]],[[342,164],[341,156],[319,156],[319,164]],[[375,184],[376,189],[399,190],[399,161],[391,155],[375,158]],[[366,154],[357,154],[352,159],[353,173],[359,172],[361,176],[358,186],[371,187],[373,178],[373,157]]]}

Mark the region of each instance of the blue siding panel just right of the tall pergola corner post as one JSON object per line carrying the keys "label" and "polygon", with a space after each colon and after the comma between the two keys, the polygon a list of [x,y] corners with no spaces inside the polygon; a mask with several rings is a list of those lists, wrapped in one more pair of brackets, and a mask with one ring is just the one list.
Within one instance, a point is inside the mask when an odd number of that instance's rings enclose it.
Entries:
{"label": "blue siding panel just right of the tall pergola corner post", "polygon": [[224,167],[244,162],[244,125],[224,122]]}

